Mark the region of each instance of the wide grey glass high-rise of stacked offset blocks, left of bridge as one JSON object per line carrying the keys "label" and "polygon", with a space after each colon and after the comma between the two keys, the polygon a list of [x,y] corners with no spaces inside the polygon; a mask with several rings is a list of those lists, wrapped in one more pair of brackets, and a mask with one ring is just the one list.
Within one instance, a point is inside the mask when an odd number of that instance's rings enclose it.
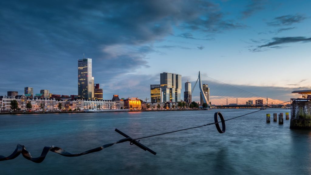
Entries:
{"label": "wide grey glass high-rise of stacked offset blocks, left of bridge", "polygon": [[162,102],[181,101],[181,75],[163,72],[160,73],[160,87],[163,92]]}

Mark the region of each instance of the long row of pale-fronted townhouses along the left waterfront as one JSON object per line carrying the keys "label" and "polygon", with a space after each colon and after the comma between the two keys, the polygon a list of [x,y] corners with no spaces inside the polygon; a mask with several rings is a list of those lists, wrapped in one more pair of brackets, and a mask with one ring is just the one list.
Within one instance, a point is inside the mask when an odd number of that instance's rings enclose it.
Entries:
{"label": "long row of pale-fronted townhouses along the left waterfront", "polygon": [[[123,101],[112,101],[112,100],[56,100],[56,99],[29,99],[25,95],[18,97],[15,96],[0,96],[0,110],[11,111],[11,101],[16,100],[18,108],[22,111],[57,111],[59,110],[59,103],[62,104],[62,110],[79,110],[84,111],[89,108],[98,109],[122,109],[124,108]],[[31,103],[32,108],[26,107],[27,103]]]}

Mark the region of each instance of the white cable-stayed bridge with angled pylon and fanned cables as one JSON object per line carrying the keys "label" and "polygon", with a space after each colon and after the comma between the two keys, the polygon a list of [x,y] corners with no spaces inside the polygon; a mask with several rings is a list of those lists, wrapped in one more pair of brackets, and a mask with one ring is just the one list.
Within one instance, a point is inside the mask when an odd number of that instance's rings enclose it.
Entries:
{"label": "white cable-stayed bridge with angled pylon and fanned cables", "polygon": [[[191,93],[196,85],[201,92],[201,102],[208,108],[262,108],[282,103],[205,76],[200,71]],[[275,107],[281,106],[284,105]]]}

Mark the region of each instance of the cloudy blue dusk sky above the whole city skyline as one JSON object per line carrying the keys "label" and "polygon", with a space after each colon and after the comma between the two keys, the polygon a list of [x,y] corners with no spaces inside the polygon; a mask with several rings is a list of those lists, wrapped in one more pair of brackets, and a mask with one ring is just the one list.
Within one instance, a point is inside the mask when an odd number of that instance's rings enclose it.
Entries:
{"label": "cloudy blue dusk sky above the whole city skyline", "polygon": [[104,99],[150,98],[160,73],[194,84],[201,71],[288,101],[297,97],[291,91],[311,89],[309,7],[309,0],[1,1],[0,95],[24,87],[77,94],[85,54]]}

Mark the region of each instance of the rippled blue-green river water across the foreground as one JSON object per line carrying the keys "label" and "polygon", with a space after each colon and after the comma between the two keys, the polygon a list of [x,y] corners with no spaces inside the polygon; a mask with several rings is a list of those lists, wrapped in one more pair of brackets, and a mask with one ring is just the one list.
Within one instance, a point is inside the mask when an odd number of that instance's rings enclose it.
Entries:
{"label": "rippled blue-green river water across the foreground", "polygon": [[[55,145],[79,153],[124,138],[199,126],[256,109],[163,111],[124,113],[23,114],[0,116],[0,155],[8,156],[17,144],[33,157],[44,146]],[[273,113],[284,113],[284,124]],[[0,162],[6,174],[311,174],[311,132],[289,129],[286,109],[267,109],[226,122],[220,134],[215,125],[142,139],[153,155],[129,145],[113,145],[80,157],[49,152],[42,163],[20,155]],[[266,113],[271,123],[266,123]]]}

